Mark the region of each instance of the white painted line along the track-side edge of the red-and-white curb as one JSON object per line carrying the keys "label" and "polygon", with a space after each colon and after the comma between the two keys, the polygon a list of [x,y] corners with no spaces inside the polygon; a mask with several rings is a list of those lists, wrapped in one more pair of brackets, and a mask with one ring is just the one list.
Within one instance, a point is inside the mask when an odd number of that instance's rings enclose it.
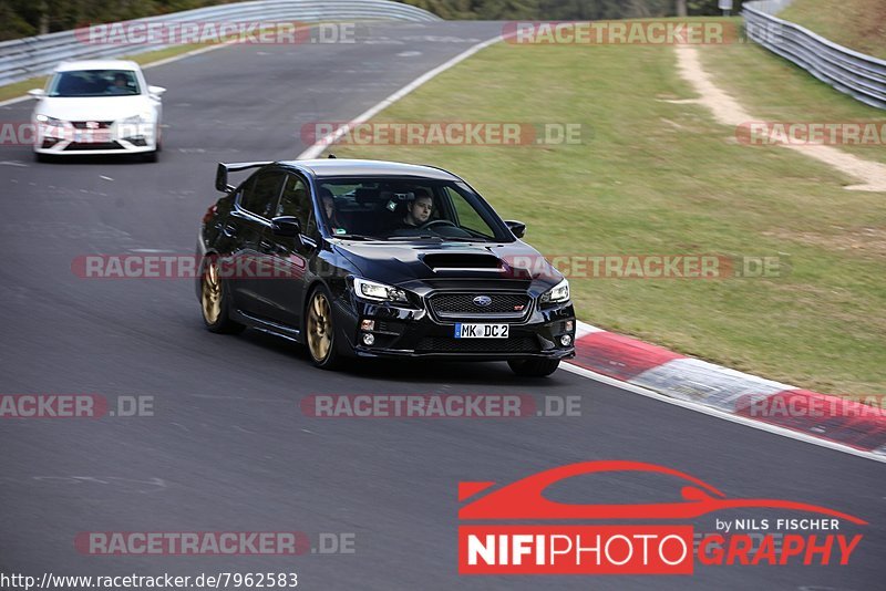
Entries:
{"label": "white painted line along the track-side edge of the red-and-white curb", "polygon": [[715,418],[722,418],[723,421],[729,421],[731,423],[738,423],[740,425],[744,425],[746,427],[753,427],[755,429],[765,431],[766,433],[772,433],[773,435],[781,435],[782,437],[787,437],[789,439],[796,439],[799,442],[807,443],[817,445],[820,447],[826,447],[828,449],[833,449],[834,452],[842,452],[844,454],[849,454],[852,456],[863,457],[865,459],[873,459],[874,462],[879,462],[882,464],[886,464],[886,456],[882,456],[878,454],[874,454],[872,452],[863,452],[861,449],[855,449],[854,447],[849,447],[847,445],[838,444],[836,442],[830,442],[827,439],[820,439],[818,437],[814,437],[812,435],[806,435],[805,433],[801,433],[799,431],[792,431],[784,427],[779,427],[776,425],[770,425],[769,423],[763,423],[761,421],[754,421],[752,418],[748,418],[741,415],[733,415],[723,411],[719,411],[717,408],[712,408],[710,406],[704,406],[702,404],[698,404],[694,402],[689,401],[681,401],[678,398],[671,398],[670,396],[666,396],[664,394],[659,394],[658,392],[653,392],[651,390],[647,390],[642,386],[636,386],[633,384],[621,382],[620,380],[616,380],[614,377],[609,377],[608,375],[602,375],[597,372],[593,372],[590,370],[586,370],[584,367],[579,367],[577,365],[573,365],[570,363],[564,363],[560,365],[563,370],[567,372],[574,373],[576,375],[580,375],[581,377],[587,377],[589,380],[594,380],[595,382],[600,382],[610,386],[615,386],[620,390],[626,390],[633,394],[639,394],[640,396],[646,396],[647,398],[652,398],[659,402],[663,402],[666,404],[671,404],[673,406],[679,406],[681,408],[687,408],[689,411],[694,411],[697,413],[701,413],[708,416],[713,416]]}

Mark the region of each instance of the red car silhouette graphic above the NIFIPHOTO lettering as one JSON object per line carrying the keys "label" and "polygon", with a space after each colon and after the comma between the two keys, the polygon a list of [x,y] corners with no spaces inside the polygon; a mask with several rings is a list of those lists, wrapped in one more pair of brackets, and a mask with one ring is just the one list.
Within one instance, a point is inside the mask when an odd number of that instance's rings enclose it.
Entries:
{"label": "red car silhouette graphic above the NIFIPHOTO lettering", "polygon": [[[573,505],[552,501],[544,496],[549,486],[585,474],[645,471],[676,476],[687,481],[682,502],[648,505]],[[463,501],[493,487],[495,483],[459,483]],[[867,521],[817,505],[779,499],[729,499],[711,485],[679,470],[641,462],[583,462],[545,470],[506,485],[459,510],[459,519],[689,519],[713,511],[741,508],[790,509],[808,511],[866,526]]]}

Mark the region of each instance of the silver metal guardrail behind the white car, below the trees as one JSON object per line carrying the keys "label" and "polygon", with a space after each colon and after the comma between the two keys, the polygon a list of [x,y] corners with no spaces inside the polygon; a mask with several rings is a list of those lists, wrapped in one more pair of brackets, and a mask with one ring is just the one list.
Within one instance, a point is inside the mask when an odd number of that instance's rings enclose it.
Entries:
{"label": "silver metal guardrail behind the white car, below the trees", "polygon": [[[159,17],[126,21],[126,27],[150,23],[199,22],[318,22],[351,20],[439,21],[439,17],[390,0],[259,0],[222,4]],[[48,74],[65,60],[90,60],[155,51],[169,44],[89,43],[76,31],[16,39],[0,43],[0,85]]]}

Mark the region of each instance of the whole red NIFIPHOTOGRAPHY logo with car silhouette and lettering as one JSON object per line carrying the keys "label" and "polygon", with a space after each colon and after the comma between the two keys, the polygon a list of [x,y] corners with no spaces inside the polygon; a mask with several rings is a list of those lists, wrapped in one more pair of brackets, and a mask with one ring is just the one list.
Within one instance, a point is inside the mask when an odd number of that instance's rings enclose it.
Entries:
{"label": "whole red NIFIPHOTOGRAPHY logo with car silhouette and lettering", "polygon": [[[611,483],[625,475],[670,477],[679,483],[681,500],[568,504],[552,500],[548,490],[573,477],[597,476]],[[459,510],[460,574],[692,574],[697,560],[703,566],[845,566],[863,538],[847,529],[852,523],[867,525],[805,502],[731,499],[688,474],[640,462],[584,462],[505,486],[459,483],[459,501],[467,501]],[[715,530],[722,533],[699,535],[692,523],[679,522],[746,509],[790,512],[715,519]],[[583,523],[589,520],[640,522]]]}

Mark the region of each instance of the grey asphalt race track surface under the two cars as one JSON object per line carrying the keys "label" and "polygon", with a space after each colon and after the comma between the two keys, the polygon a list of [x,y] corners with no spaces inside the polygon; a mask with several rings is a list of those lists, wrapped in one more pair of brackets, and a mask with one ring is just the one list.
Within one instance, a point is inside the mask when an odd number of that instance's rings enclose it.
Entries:
{"label": "grey asphalt race track surface under the two cars", "polygon": [[[501,30],[483,22],[373,25],[356,44],[231,46],[146,70],[152,84],[168,89],[155,165],[35,164],[29,146],[0,147],[0,394],[154,397],[154,416],[0,419],[0,571],[296,571],[300,588],[322,590],[882,589],[886,497],[878,463],[566,371],[528,382],[504,363],[322,372],[288,341],[204,330],[190,280],[72,272],[82,255],[193,253],[199,219],[217,198],[216,162],[293,158],[307,147],[302,124],[353,117]],[[24,122],[31,106],[0,107],[0,118]],[[299,407],[311,394],[361,393],[579,396],[581,416],[320,419]],[[845,567],[697,566],[691,577],[457,574],[459,481],[509,483],[595,459],[660,464],[730,497],[810,502],[870,525]],[[631,492],[656,502],[660,491]],[[714,516],[694,525],[712,532]],[[85,556],[73,543],[83,531],[282,530],[312,540],[351,533],[356,552],[119,557]]]}

